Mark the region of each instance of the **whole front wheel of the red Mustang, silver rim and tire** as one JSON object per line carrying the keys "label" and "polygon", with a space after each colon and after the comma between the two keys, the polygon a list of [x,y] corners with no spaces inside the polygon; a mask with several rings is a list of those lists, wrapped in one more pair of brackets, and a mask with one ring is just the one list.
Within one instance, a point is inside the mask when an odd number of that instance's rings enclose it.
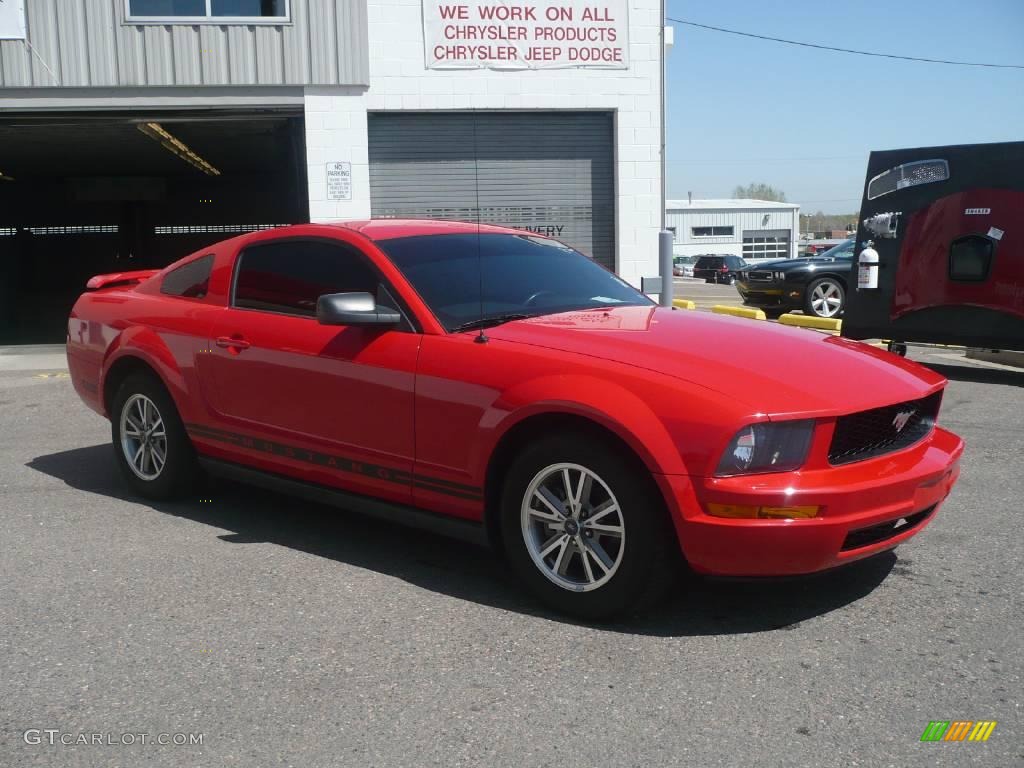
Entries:
{"label": "whole front wheel of the red Mustang, silver rim and tire", "polygon": [[584,618],[641,609],[672,583],[676,537],[645,470],[601,439],[553,436],[506,477],[509,560],[552,607]]}

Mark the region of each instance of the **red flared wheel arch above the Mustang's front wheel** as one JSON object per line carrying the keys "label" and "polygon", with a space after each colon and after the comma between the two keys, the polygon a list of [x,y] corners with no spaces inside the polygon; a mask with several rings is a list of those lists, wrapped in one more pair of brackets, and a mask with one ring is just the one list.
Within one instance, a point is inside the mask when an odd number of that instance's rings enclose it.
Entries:
{"label": "red flared wheel arch above the Mustang's front wheel", "polygon": [[482,480],[495,449],[510,429],[543,414],[589,419],[617,435],[652,473],[688,474],[665,424],[635,392],[597,377],[549,375],[511,387],[484,412],[474,476]]}

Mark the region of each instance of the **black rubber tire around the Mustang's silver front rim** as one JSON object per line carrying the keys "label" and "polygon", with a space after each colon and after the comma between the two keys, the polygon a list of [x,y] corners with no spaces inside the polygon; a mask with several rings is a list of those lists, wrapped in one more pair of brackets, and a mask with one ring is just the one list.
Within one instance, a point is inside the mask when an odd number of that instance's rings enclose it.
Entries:
{"label": "black rubber tire around the Mustang's silver front rim", "polygon": [[[545,575],[530,555],[521,523],[524,497],[535,477],[559,463],[595,473],[621,510],[622,559],[608,581],[590,591],[572,591]],[[505,476],[501,525],[509,562],[526,587],[556,610],[585,620],[651,607],[673,585],[681,560],[675,529],[653,479],[635,457],[600,435],[553,435],[520,453]],[[568,557],[575,558],[573,567],[583,567],[580,558],[585,556],[579,550]]]}

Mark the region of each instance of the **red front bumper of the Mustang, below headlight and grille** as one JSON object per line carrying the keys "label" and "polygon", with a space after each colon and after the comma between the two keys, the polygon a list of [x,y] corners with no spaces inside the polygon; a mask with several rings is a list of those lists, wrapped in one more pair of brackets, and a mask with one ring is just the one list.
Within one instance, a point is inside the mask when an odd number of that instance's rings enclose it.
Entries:
{"label": "red front bumper of the Mustang, below headlight and grille", "polygon": [[[676,531],[693,570],[797,575],[884,552],[923,530],[959,476],[963,453],[959,437],[936,428],[905,451],[839,467],[658,481],[675,506]],[[821,510],[802,520],[728,519],[707,514],[709,503]]]}

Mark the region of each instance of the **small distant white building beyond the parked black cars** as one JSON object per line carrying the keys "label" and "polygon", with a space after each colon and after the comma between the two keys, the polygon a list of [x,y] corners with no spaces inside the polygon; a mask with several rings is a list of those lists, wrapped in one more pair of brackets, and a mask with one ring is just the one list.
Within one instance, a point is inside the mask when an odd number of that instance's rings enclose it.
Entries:
{"label": "small distant white building beyond the parked black cars", "polygon": [[800,206],[766,200],[670,200],[677,256],[731,253],[744,259],[798,256]]}

